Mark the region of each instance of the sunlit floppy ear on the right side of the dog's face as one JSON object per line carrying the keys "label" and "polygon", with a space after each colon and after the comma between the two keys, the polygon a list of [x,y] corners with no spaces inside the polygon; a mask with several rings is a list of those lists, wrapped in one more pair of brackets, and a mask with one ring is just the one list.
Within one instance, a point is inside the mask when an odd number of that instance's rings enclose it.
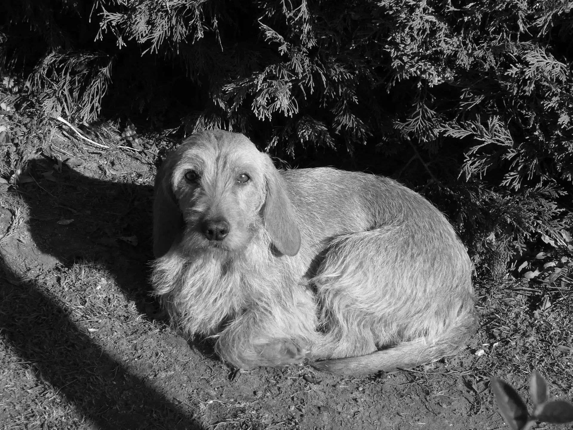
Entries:
{"label": "sunlit floppy ear on the right side of the dog's face", "polygon": [[264,217],[266,230],[277,250],[293,256],[300,249],[300,230],[295,208],[286,195],[286,184],[269,157],[266,158],[266,200]]}

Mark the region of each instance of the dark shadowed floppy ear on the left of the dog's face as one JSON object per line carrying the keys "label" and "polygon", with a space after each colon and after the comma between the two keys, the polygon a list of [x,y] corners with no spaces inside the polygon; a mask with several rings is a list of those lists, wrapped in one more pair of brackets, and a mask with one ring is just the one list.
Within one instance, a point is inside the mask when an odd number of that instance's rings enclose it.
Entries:
{"label": "dark shadowed floppy ear on the left of the dog's face", "polygon": [[155,177],[153,202],[153,255],[163,256],[183,226],[183,217],[171,186],[171,163],[164,162]]}

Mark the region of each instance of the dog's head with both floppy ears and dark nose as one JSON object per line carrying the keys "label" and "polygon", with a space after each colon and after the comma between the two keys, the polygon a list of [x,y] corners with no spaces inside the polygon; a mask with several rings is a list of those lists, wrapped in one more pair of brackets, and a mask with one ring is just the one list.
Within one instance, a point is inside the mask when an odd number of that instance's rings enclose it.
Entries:
{"label": "dog's head with both floppy ears and dark nose", "polygon": [[180,241],[205,252],[241,251],[262,225],[279,252],[296,255],[300,232],[285,187],[270,157],[244,135],[189,136],[155,178],[155,257]]}

